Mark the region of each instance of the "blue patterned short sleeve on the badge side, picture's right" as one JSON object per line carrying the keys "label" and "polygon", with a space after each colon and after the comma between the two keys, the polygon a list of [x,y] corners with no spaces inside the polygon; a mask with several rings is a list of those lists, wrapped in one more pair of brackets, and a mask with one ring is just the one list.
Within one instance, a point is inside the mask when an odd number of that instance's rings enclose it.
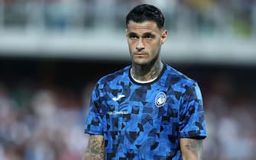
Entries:
{"label": "blue patterned short sleeve on the badge side, picture's right", "polygon": [[204,139],[206,133],[206,120],[203,110],[203,98],[199,85],[185,85],[180,106],[180,137]]}

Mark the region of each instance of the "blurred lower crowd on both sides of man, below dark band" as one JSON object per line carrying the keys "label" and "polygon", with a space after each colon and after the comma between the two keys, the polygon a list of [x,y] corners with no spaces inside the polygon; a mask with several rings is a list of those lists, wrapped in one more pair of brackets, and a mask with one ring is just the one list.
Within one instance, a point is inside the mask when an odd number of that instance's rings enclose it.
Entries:
{"label": "blurred lower crowd on both sides of man, below dark band", "polygon": [[[256,159],[256,93],[228,75],[201,77],[208,137],[204,160]],[[88,136],[83,133],[94,82],[81,92],[50,84],[0,85],[1,160],[79,160]],[[67,86],[66,86],[67,87]]]}

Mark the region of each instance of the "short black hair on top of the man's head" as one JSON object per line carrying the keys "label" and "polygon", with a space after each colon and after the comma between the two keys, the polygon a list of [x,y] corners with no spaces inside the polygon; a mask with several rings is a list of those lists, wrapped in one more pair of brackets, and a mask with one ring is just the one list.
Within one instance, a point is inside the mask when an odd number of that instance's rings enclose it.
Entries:
{"label": "short black hair on top of the man's head", "polygon": [[126,16],[126,27],[129,21],[141,23],[144,21],[154,21],[159,29],[164,27],[164,14],[154,5],[137,5]]}

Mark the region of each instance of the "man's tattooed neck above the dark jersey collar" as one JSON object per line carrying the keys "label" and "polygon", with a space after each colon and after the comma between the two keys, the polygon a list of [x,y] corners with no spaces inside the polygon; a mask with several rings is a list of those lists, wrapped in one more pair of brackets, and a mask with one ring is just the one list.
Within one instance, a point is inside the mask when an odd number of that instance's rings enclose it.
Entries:
{"label": "man's tattooed neck above the dark jersey collar", "polygon": [[147,82],[156,79],[164,67],[164,63],[161,61],[154,62],[153,65],[132,65],[131,76],[134,80],[141,82]]}

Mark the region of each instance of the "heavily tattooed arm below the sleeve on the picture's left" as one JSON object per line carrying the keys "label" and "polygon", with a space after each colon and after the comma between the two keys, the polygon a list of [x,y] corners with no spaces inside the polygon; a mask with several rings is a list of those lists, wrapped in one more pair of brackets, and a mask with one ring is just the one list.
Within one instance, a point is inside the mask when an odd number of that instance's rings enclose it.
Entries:
{"label": "heavily tattooed arm below the sleeve on the picture's left", "polygon": [[83,160],[105,159],[105,144],[102,135],[90,135]]}

